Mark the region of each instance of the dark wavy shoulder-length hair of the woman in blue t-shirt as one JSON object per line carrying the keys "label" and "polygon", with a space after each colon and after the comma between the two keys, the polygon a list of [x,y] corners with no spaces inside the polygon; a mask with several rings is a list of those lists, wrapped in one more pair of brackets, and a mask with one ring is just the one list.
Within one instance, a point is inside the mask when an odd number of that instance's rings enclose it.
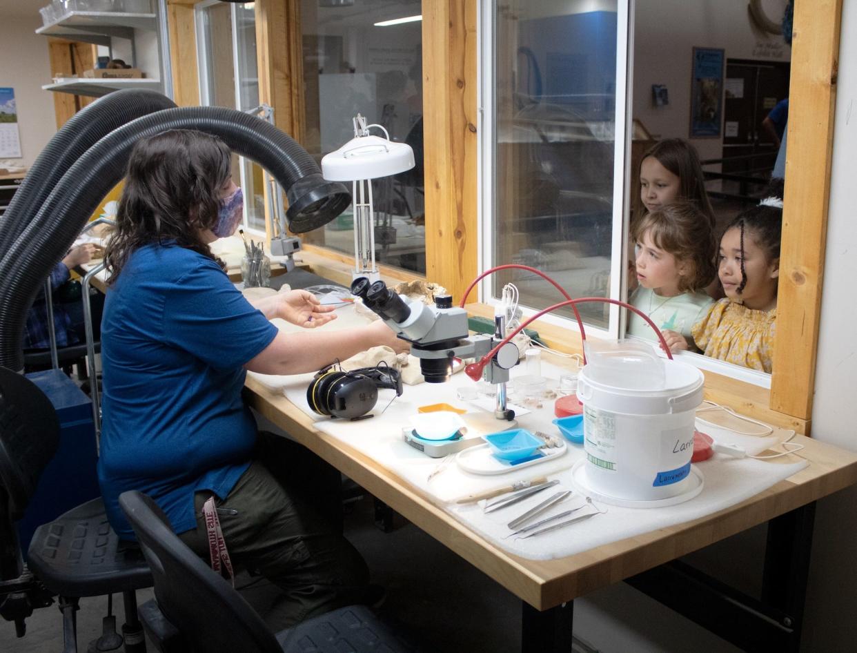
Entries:
{"label": "dark wavy shoulder-length hair of the woman in blue t-shirt", "polygon": [[105,251],[111,282],[135,249],[165,240],[218,261],[200,231],[216,224],[230,177],[230,149],[217,136],[171,129],[137,141]]}

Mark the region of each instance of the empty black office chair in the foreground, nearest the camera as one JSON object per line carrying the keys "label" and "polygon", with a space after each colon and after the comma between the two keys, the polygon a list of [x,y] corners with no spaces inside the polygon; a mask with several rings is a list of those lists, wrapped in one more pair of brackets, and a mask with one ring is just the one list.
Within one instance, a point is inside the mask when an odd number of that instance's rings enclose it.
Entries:
{"label": "empty black office chair in the foreground, nearest the camera", "polygon": [[140,612],[149,638],[165,653],[416,653],[363,606],[339,608],[273,633],[231,584],[172,532],[151,498],[125,492],[119,505],[152,568],[157,604],[147,602]]}

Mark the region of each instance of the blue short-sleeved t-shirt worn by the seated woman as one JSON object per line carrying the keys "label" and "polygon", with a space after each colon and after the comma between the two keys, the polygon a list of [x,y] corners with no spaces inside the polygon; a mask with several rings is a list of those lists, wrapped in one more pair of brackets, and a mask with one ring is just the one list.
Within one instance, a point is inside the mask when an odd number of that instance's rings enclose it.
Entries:
{"label": "blue short-sleeved t-shirt worn by the seated woman", "polygon": [[221,499],[249,466],[256,428],[244,363],[277,335],[218,265],[175,244],[130,255],[105,298],[99,482],[120,537],[119,494],[149,494],[173,530],[194,529],[194,493]]}

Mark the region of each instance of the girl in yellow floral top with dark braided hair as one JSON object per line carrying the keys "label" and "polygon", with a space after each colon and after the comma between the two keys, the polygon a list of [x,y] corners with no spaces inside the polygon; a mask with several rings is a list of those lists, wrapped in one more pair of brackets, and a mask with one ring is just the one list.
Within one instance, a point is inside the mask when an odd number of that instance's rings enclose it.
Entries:
{"label": "girl in yellow floral top with dark braided hair", "polygon": [[726,297],[692,328],[705,356],[769,374],[776,331],[782,190],[778,195],[740,213],[723,233],[718,275]]}

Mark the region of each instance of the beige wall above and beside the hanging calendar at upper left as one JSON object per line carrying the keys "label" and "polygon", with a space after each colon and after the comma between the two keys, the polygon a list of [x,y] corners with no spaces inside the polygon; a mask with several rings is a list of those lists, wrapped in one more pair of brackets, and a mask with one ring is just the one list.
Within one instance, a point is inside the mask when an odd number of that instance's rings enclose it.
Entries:
{"label": "beige wall above and beside the hanging calendar at upper left", "polygon": [[42,84],[51,83],[51,63],[48,39],[35,33],[41,24],[38,12],[32,18],[0,21],[0,87],[15,89],[23,155],[15,160],[27,166],[57,131],[53,96],[42,90]]}

